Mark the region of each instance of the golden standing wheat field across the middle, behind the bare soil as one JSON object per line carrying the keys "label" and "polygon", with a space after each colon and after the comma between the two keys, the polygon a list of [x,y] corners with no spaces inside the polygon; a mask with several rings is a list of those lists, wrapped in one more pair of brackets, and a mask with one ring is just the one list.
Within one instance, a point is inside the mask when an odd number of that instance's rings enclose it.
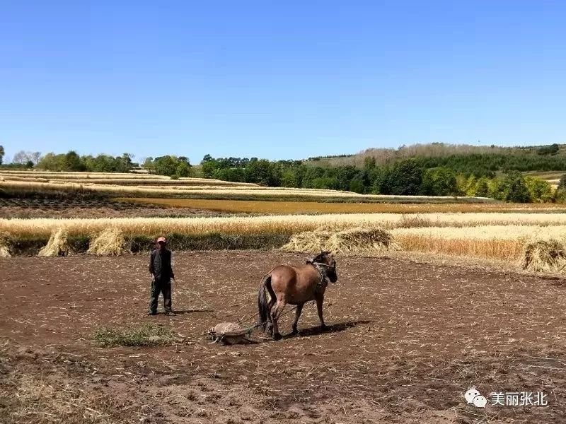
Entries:
{"label": "golden standing wheat field across the middle, behind the bare soil", "polygon": [[[521,223],[521,225],[517,225]],[[566,245],[566,216],[545,213],[425,213],[402,215],[395,213],[328,214],[219,217],[219,218],[100,218],[100,219],[3,219],[0,233],[12,239],[51,237],[50,249],[61,252],[55,241],[60,234],[88,236],[97,240],[100,234],[112,230],[120,237],[169,235],[282,235],[303,234],[319,228],[339,232],[349,228],[383,228],[391,234],[391,249],[408,252],[449,254],[504,261],[524,260],[524,248],[529,242],[556,240]],[[362,234],[362,233],[360,233]],[[352,237],[354,239],[352,240]],[[355,235],[347,242],[356,243]],[[62,242],[64,245],[64,242]],[[309,247],[318,246],[316,239]],[[120,252],[123,243],[108,242]],[[323,244],[320,242],[320,246]],[[563,247],[561,247],[563,249]],[[47,249],[49,251],[49,249]],[[316,249],[315,249],[316,250]],[[350,247],[350,252],[355,249]],[[387,250],[387,249],[386,249]],[[371,254],[365,249],[364,254]],[[383,253],[376,249],[375,253]],[[551,253],[562,255],[564,252]]]}

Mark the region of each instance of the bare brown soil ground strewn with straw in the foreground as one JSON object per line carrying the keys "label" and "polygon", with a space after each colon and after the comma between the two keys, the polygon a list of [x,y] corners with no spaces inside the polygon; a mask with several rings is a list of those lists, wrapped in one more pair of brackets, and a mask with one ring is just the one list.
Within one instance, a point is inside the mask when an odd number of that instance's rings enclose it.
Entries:
{"label": "bare brown soil ground strewn with straw in the foreground", "polygon": [[[174,255],[176,317],[145,315],[146,256],[0,258],[1,423],[566,423],[566,280],[339,257],[329,331],[211,344],[253,315],[260,278],[304,254]],[[290,331],[291,314],[282,328]],[[100,326],[156,322],[172,346],[101,348]],[[488,399],[467,405],[468,387]],[[491,392],[548,406],[491,406]]]}

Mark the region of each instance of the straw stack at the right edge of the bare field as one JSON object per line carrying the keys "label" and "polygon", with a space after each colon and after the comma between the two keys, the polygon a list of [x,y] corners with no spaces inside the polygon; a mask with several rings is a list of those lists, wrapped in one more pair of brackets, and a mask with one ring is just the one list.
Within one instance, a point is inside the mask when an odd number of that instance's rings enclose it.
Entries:
{"label": "straw stack at the right edge of the bare field", "polygon": [[536,272],[566,272],[566,247],[554,239],[526,242],[521,268]]}

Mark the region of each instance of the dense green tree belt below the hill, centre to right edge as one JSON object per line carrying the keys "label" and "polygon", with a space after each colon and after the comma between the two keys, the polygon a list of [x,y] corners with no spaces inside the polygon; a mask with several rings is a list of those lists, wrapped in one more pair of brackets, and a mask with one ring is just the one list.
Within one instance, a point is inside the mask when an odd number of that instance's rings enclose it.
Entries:
{"label": "dense green tree belt below the hill, centre to right edge", "polygon": [[555,201],[560,195],[560,189],[555,193],[548,182],[524,177],[518,170],[507,170],[502,177],[495,177],[492,171],[465,173],[449,166],[427,167],[426,161],[418,158],[379,166],[374,157],[368,156],[359,168],[322,167],[292,160],[215,159],[206,155],[201,165],[206,178],[272,187],[335,189],[360,194],[482,196],[514,202]]}

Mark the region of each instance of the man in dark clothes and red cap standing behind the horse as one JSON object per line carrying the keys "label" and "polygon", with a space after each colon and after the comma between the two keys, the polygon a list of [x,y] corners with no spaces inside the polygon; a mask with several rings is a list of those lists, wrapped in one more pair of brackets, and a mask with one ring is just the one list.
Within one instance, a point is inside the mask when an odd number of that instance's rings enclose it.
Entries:
{"label": "man in dark clothes and red cap standing behind the horse", "polygon": [[171,278],[175,279],[171,268],[171,250],[166,249],[165,237],[157,239],[157,247],[149,255],[149,273],[151,273],[151,301],[148,315],[157,314],[159,293],[163,293],[163,306],[166,315],[175,315],[171,310]]}

